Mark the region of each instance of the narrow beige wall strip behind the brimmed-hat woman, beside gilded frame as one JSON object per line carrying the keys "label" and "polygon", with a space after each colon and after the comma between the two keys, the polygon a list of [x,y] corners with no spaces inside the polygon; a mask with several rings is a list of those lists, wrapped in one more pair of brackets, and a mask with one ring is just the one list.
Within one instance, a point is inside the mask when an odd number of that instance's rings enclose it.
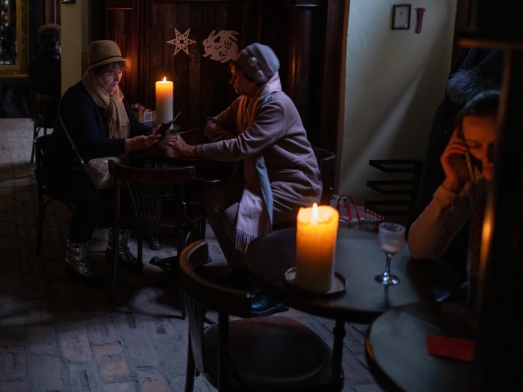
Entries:
{"label": "narrow beige wall strip behind the brimmed-hat woman, beside gilded frame", "polygon": [[80,81],[89,45],[89,0],[61,4],[62,94]]}

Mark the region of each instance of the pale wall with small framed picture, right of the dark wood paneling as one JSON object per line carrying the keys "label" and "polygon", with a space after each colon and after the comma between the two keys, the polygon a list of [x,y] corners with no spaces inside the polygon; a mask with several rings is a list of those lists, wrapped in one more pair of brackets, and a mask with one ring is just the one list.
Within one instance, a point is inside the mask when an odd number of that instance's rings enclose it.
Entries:
{"label": "pale wall with small framed picture, right of the dark wood paneling", "polygon": [[370,159],[424,158],[451,64],[456,0],[416,0],[410,30],[391,29],[394,3],[350,1],[337,192],[359,204],[381,198],[366,187],[383,177]]}

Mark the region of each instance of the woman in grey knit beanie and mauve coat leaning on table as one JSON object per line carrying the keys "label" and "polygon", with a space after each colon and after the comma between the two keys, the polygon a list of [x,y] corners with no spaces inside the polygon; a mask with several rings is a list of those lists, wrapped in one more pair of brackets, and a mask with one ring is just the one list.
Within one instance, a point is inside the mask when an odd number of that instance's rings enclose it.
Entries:
{"label": "woman in grey knit beanie and mauve coat leaning on table", "polygon": [[[213,143],[188,145],[171,136],[166,144],[184,156],[243,163],[243,172],[204,196],[207,219],[228,265],[241,271],[235,267],[244,266],[250,241],[295,222],[300,207],[319,203],[322,185],[298,110],[281,90],[275,52],[253,43],[239,52],[229,70],[229,83],[239,97],[206,123],[205,134]],[[263,295],[253,301],[254,315],[282,309]]]}

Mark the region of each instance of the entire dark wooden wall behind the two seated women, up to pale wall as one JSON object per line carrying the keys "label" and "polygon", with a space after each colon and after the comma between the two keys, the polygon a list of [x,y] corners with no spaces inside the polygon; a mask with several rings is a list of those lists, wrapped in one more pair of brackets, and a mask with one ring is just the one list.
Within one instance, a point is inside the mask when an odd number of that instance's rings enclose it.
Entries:
{"label": "entire dark wooden wall behind the two seated women, up to pale wall", "polygon": [[[156,106],[155,82],[174,82],[180,122],[203,125],[236,98],[227,63],[204,56],[211,32],[234,30],[238,49],[258,41],[281,62],[284,91],[295,101],[313,145],[335,150],[345,0],[105,0],[92,2],[92,39],[114,39],[131,53],[122,88],[130,103]],[[131,15],[131,16],[129,16]],[[175,56],[175,29],[190,29],[189,54]]]}

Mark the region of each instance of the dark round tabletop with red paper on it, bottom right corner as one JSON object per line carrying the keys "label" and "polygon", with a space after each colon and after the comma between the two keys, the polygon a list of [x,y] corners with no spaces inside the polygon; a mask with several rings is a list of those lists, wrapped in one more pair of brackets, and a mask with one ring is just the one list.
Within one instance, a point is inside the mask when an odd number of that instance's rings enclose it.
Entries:
{"label": "dark round tabletop with red paper on it, bottom right corner", "polygon": [[473,323],[446,305],[418,302],[376,318],[365,336],[367,363],[386,391],[469,391],[472,362],[429,355],[427,334],[472,340]]}

